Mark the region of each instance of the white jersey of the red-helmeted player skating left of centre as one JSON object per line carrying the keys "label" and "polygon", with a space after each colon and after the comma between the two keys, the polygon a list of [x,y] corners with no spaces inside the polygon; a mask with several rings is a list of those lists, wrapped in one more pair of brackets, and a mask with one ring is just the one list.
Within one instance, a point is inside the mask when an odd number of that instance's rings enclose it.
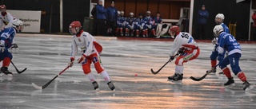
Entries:
{"label": "white jersey of the red-helmeted player skating left of centre", "polygon": [[74,35],[72,37],[70,56],[74,57],[74,59],[78,53],[78,47],[81,49],[81,53],[84,53],[86,56],[102,52],[102,46],[97,43],[96,39],[90,33],[83,31],[80,36]]}

